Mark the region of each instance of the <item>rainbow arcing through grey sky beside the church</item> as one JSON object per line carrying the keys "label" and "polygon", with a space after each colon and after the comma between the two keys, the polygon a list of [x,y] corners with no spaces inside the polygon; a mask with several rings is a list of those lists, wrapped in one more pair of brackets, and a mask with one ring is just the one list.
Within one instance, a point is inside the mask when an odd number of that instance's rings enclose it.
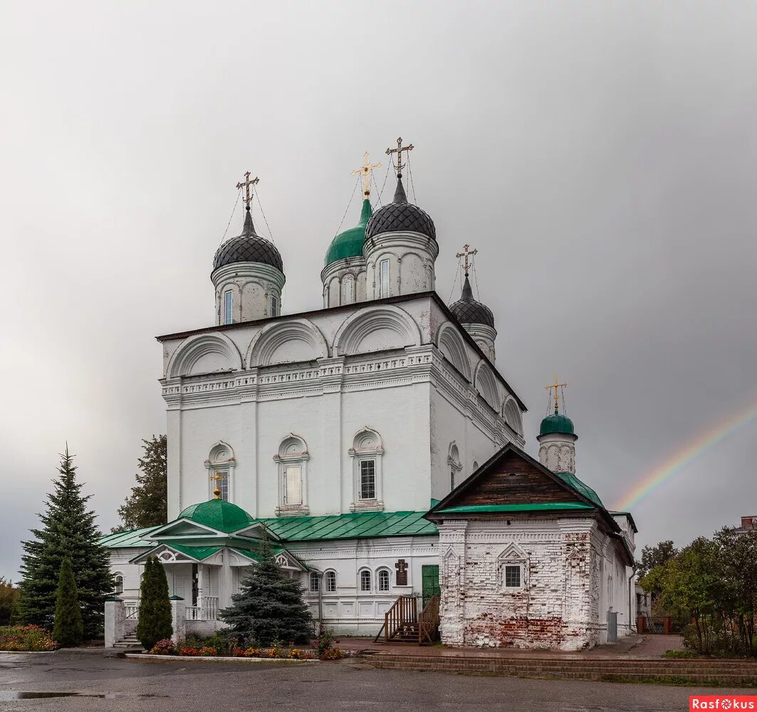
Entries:
{"label": "rainbow arcing through grey sky beside the church", "polygon": [[618,503],[619,511],[629,511],[646,496],[653,493],[661,484],[678,474],[693,459],[706,452],[712,446],[717,445],[725,437],[746,425],[752,418],[757,416],[757,400],[749,403],[749,406],[731,415],[711,428],[699,433],[690,443],[660,463],[650,474],[643,477],[640,482],[634,484]]}

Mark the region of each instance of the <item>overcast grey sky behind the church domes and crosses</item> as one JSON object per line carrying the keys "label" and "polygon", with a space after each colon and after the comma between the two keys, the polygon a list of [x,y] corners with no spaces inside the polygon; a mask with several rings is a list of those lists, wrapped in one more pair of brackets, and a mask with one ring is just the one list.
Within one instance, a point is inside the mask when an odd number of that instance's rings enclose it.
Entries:
{"label": "overcast grey sky behind the church domes and crosses", "polygon": [[[445,301],[479,250],[528,451],[558,373],[579,477],[616,505],[757,400],[755,24],[752,2],[3,3],[0,574],[66,441],[115,524],[165,431],[153,337],[213,323],[245,170],[284,312],[316,309],[350,171],[397,135]],[[640,502],[639,543],[757,514],[755,436]]]}

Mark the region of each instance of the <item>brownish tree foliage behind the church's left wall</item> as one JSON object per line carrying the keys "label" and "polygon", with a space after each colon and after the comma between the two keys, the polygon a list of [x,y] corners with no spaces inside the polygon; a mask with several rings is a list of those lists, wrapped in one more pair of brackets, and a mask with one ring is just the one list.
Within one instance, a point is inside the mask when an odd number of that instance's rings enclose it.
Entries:
{"label": "brownish tree foliage behind the church's left wall", "polygon": [[120,524],[113,533],[143,527],[157,527],[168,519],[167,440],[154,435],[142,440],[144,454],[137,460],[137,484],[118,508]]}

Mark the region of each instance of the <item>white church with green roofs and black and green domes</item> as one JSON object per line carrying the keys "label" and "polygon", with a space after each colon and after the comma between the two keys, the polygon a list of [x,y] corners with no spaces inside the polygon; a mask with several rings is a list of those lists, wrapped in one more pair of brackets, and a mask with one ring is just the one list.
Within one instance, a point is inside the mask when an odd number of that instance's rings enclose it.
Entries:
{"label": "white church with green roofs and black and green domes", "polygon": [[403,188],[410,148],[388,151],[397,188],[375,211],[366,154],[360,220],[329,245],[310,312],[281,313],[257,179],[238,184],[244,225],[210,273],[216,323],[157,337],[169,521],[101,539],[117,581],[106,645],[132,636],[151,555],[177,639],[223,626],[263,536],[342,635],[574,650],[632,630],[634,521],[576,476],[559,384],[538,461],[525,453],[525,405],[495,365],[467,245],[460,299],[435,291],[436,227]]}

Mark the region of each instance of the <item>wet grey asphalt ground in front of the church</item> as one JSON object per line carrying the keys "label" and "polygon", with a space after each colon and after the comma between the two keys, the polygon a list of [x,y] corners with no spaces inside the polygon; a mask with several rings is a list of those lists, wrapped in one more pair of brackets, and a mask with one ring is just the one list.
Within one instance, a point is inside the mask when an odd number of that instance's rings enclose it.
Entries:
{"label": "wet grey asphalt ground in front of the church", "polygon": [[64,651],[0,654],[0,710],[656,712],[688,710],[693,692],[755,691],[375,670],[357,660],[282,665],[145,662]]}

